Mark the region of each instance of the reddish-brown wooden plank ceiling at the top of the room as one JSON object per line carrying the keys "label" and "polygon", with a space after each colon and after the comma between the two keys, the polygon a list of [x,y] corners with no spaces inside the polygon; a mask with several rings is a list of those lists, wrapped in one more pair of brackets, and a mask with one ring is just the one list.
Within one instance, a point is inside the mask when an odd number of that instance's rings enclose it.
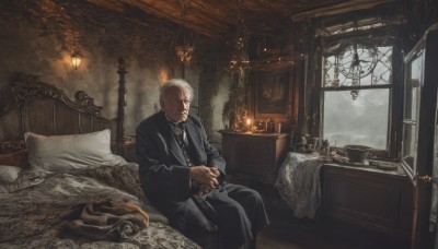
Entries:
{"label": "reddish-brown wooden plank ceiling at the top of the room", "polygon": [[[184,0],[88,0],[130,20],[145,21],[142,13],[181,25]],[[214,38],[231,38],[235,32],[239,0],[185,0],[188,3],[185,26]],[[371,9],[395,0],[244,0],[243,21],[249,33],[275,29],[309,17],[343,14]]]}

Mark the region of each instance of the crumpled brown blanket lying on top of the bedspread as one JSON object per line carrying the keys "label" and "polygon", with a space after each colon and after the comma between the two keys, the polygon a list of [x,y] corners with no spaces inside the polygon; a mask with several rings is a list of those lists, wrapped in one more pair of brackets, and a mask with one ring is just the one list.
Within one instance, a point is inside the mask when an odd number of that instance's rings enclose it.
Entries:
{"label": "crumpled brown blanket lying on top of the bedspread", "polygon": [[148,214],[131,200],[106,199],[78,209],[70,215],[71,221],[65,225],[61,236],[120,241],[149,225]]}

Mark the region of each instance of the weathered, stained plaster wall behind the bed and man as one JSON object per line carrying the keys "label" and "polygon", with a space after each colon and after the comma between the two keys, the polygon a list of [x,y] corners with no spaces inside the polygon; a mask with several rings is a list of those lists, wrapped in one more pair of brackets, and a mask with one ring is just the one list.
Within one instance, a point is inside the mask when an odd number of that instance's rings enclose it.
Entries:
{"label": "weathered, stained plaster wall behind the bed and man", "polygon": [[[159,109],[160,84],[182,76],[173,50],[177,28],[152,16],[134,23],[87,2],[1,1],[0,88],[13,72],[36,74],[71,98],[77,91],[85,91],[104,107],[103,117],[115,118],[117,67],[124,57],[128,63],[125,133],[134,135],[137,124]],[[218,140],[216,130],[222,129],[219,120],[228,98],[227,74],[221,68],[226,57],[223,49],[216,47],[221,42],[195,37],[194,61],[186,67],[185,78],[195,90],[193,105],[204,110],[200,115],[208,135]],[[83,55],[78,70],[70,64],[74,50]]]}

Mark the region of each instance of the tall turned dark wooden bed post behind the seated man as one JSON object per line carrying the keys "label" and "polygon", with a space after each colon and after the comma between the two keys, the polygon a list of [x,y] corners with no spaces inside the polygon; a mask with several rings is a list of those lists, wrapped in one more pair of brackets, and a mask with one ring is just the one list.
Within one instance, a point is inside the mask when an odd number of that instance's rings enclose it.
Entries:
{"label": "tall turned dark wooden bed post behind the seated man", "polygon": [[126,82],[125,74],[126,61],[124,58],[118,59],[118,104],[117,104],[117,133],[116,133],[116,153],[125,156],[125,106],[126,106]]}

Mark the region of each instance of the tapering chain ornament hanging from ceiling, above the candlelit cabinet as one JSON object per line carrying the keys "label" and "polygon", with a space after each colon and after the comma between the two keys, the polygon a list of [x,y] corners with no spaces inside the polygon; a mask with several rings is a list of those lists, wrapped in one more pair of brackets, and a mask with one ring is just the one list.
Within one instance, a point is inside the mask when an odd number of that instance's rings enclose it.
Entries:
{"label": "tapering chain ornament hanging from ceiling, above the candlelit cabinet", "polygon": [[242,14],[243,0],[239,1],[238,13],[238,32],[234,39],[233,54],[231,56],[230,69],[233,71],[242,71],[250,67],[247,55],[247,36]]}

